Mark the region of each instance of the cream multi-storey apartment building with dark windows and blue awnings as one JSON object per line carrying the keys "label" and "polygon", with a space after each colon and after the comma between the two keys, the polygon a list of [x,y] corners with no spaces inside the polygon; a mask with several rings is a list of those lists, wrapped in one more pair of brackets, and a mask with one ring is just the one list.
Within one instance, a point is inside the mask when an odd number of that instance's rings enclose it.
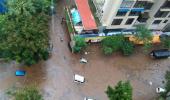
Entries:
{"label": "cream multi-storey apartment building with dark windows and blue awnings", "polygon": [[[135,29],[146,25],[165,30],[170,23],[170,0],[92,0],[106,29]],[[166,28],[167,29],[167,28]]]}

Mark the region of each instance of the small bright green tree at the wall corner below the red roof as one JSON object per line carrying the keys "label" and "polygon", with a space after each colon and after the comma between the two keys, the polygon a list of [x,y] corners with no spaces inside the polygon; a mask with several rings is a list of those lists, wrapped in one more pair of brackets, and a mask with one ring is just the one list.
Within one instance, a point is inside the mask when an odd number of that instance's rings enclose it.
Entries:
{"label": "small bright green tree at the wall corner below the red roof", "polygon": [[83,49],[87,47],[87,43],[85,42],[84,38],[81,38],[80,36],[74,37],[75,45],[73,47],[73,51],[75,53],[80,53]]}

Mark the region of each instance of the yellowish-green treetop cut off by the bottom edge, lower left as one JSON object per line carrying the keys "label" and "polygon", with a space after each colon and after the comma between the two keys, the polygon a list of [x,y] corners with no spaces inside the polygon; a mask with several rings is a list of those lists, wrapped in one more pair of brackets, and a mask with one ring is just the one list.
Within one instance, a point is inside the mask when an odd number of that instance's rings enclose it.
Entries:
{"label": "yellowish-green treetop cut off by the bottom edge, lower left", "polygon": [[14,97],[14,100],[43,100],[42,95],[35,86],[27,86],[14,91],[8,91],[8,94]]}

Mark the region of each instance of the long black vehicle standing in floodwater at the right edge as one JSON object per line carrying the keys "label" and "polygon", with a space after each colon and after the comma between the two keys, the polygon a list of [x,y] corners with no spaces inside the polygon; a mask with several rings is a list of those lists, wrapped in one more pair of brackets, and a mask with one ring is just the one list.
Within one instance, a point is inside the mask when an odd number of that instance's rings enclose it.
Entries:
{"label": "long black vehicle standing in floodwater at the right edge", "polygon": [[168,58],[170,57],[170,51],[168,49],[153,50],[150,56],[155,59]]}

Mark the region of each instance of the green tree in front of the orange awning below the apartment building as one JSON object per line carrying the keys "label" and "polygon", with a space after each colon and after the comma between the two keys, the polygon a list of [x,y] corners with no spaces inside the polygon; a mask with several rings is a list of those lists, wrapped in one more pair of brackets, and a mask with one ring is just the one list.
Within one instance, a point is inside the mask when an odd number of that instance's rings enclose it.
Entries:
{"label": "green tree in front of the orange awning below the apartment building", "polygon": [[143,41],[144,50],[147,51],[152,46],[151,41],[153,39],[153,35],[151,31],[148,30],[144,25],[138,25],[136,30],[137,33],[135,34],[135,37],[137,38],[137,41]]}

